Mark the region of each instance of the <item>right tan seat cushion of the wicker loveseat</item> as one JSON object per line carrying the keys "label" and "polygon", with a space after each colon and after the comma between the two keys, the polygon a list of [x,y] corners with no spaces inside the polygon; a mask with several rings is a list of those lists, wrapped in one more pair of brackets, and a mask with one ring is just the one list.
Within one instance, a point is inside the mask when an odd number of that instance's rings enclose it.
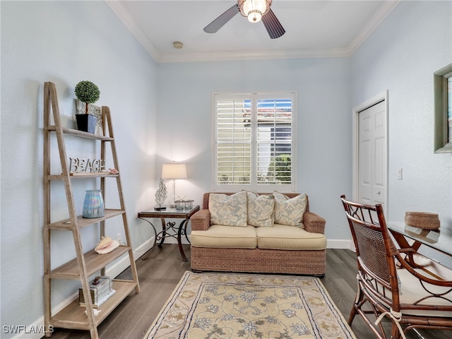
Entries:
{"label": "right tan seat cushion of the wicker loveseat", "polygon": [[273,227],[257,227],[256,234],[259,249],[326,249],[324,234],[309,233],[301,227],[275,224]]}

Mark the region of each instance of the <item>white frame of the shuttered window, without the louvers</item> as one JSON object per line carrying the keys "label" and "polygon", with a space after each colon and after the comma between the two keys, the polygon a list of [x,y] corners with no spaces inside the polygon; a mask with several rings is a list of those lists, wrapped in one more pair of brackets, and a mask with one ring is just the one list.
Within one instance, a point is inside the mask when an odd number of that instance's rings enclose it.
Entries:
{"label": "white frame of the shuttered window, without the louvers", "polygon": [[[292,144],[291,144],[291,169],[292,177],[290,184],[257,184],[257,119],[253,119],[251,126],[251,184],[219,184],[217,182],[217,110],[216,100],[243,100],[244,97],[249,96],[251,99],[252,112],[256,111],[257,100],[265,99],[291,99],[292,100]],[[213,93],[212,94],[212,112],[213,112],[213,128],[212,128],[212,190],[218,192],[237,192],[242,189],[255,192],[295,192],[296,173],[297,173],[297,157],[296,157],[296,145],[297,145],[297,95],[295,91],[290,92],[268,92],[268,93]]]}

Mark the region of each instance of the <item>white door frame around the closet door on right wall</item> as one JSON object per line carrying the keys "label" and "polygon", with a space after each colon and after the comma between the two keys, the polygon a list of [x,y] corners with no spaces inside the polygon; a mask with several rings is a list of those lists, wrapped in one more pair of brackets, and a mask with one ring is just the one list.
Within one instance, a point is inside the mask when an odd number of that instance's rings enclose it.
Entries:
{"label": "white door frame around the closet door on right wall", "polygon": [[352,199],[353,201],[358,201],[358,190],[359,190],[359,112],[364,111],[371,106],[378,104],[379,102],[384,101],[384,109],[386,116],[386,129],[385,129],[385,145],[386,149],[386,173],[385,173],[385,181],[386,181],[386,190],[385,195],[383,197],[384,206],[385,206],[385,215],[388,215],[388,90],[381,92],[374,97],[371,97],[366,102],[358,105],[352,110],[352,129],[353,129],[353,145],[352,145]]}

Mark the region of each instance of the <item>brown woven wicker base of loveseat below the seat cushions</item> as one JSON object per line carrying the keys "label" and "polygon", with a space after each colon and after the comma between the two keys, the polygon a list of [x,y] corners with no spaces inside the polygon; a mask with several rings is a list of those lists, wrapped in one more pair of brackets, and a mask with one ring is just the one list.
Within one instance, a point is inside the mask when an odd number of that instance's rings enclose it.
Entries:
{"label": "brown woven wicker base of loveseat below the seat cushions", "polygon": [[191,269],[198,271],[286,273],[322,277],[326,249],[283,251],[278,249],[210,249],[191,247]]}

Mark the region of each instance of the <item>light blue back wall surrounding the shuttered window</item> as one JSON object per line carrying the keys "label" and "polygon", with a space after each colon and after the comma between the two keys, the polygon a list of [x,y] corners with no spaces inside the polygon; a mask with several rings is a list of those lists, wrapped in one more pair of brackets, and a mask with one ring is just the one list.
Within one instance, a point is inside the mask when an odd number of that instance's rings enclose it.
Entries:
{"label": "light blue back wall surrounding the shuttered window", "polygon": [[350,59],[160,64],[158,74],[157,163],[187,163],[178,195],[201,203],[212,190],[212,93],[295,90],[297,191],[326,218],[328,239],[349,239],[339,197],[351,191]]}

